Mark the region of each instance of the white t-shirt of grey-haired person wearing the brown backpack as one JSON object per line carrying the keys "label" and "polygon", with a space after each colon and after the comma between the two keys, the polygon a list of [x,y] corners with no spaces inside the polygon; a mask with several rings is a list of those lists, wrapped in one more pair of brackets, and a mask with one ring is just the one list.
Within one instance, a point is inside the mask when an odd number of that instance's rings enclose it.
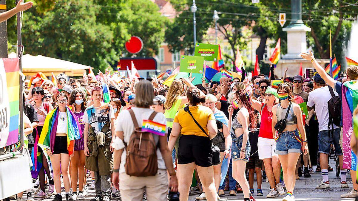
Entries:
{"label": "white t-shirt of grey-haired person wearing the brown backpack", "polygon": [[[141,127],[144,119],[149,119],[149,116],[153,113],[153,109],[150,108],[137,108],[132,107],[131,108],[135,114],[135,117],[137,119],[138,125]],[[166,119],[163,113],[157,113],[156,116],[153,119],[154,122],[158,122],[161,124],[166,125]],[[116,132],[117,131],[123,131],[124,134],[124,142],[126,144],[129,143],[129,139],[131,137],[131,134],[134,131],[134,124],[132,122],[132,117],[128,110],[122,110],[120,114],[118,114],[117,120],[116,120]],[[166,133],[168,133],[166,131]],[[153,134],[155,142],[158,143],[159,136]],[[156,151],[157,158],[158,158],[158,169],[166,169],[164,159],[161,156],[159,148]],[[126,162],[126,150],[124,149],[122,156],[121,156],[121,164],[119,167],[119,172],[124,173],[125,172],[125,162]]]}

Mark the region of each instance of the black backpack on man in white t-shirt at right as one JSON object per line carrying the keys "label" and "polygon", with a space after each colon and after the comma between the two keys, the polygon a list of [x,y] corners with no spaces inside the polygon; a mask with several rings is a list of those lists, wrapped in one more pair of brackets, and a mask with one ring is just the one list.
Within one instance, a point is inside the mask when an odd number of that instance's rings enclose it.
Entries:
{"label": "black backpack on man in white t-shirt at right", "polygon": [[[332,98],[328,100],[328,136],[333,130],[333,124],[340,126],[340,118],[342,116],[342,100],[339,96],[335,95],[332,87],[328,86],[329,93]],[[329,128],[332,125],[332,130]]]}

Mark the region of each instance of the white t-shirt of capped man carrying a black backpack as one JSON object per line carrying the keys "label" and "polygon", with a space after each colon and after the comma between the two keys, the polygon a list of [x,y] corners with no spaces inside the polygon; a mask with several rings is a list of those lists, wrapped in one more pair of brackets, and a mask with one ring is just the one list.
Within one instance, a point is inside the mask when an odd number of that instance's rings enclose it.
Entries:
{"label": "white t-shirt of capped man carrying a black backpack", "polygon": [[[333,90],[335,95],[338,95],[337,92]],[[328,130],[328,104],[327,102],[332,98],[329,93],[328,86],[320,87],[311,91],[308,95],[307,107],[315,107],[316,116],[318,119],[318,131]],[[338,126],[333,125],[333,128],[339,128]]]}

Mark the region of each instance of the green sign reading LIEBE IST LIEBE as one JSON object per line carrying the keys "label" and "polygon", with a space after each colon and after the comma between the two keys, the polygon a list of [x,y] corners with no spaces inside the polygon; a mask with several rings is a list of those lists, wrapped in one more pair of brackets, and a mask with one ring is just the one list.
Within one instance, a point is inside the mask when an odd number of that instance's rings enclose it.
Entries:
{"label": "green sign reading LIEBE IST LIEBE", "polygon": [[185,56],[180,57],[180,72],[203,73],[204,57]]}

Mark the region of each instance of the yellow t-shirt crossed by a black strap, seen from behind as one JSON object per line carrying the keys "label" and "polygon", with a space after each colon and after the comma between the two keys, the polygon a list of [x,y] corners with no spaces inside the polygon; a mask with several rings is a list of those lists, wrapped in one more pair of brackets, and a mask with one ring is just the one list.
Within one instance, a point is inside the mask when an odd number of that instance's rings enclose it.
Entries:
{"label": "yellow t-shirt crossed by a black strap, seen from behind", "polygon": [[180,109],[176,113],[174,122],[179,123],[182,126],[182,135],[195,135],[208,137],[208,121],[215,120],[214,113],[210,108],[205,106],[190,106],[190,112],[193,114],[194,119],[200,124],[206,131],[206,134],[195,124],[193,118],[184,109]]}

